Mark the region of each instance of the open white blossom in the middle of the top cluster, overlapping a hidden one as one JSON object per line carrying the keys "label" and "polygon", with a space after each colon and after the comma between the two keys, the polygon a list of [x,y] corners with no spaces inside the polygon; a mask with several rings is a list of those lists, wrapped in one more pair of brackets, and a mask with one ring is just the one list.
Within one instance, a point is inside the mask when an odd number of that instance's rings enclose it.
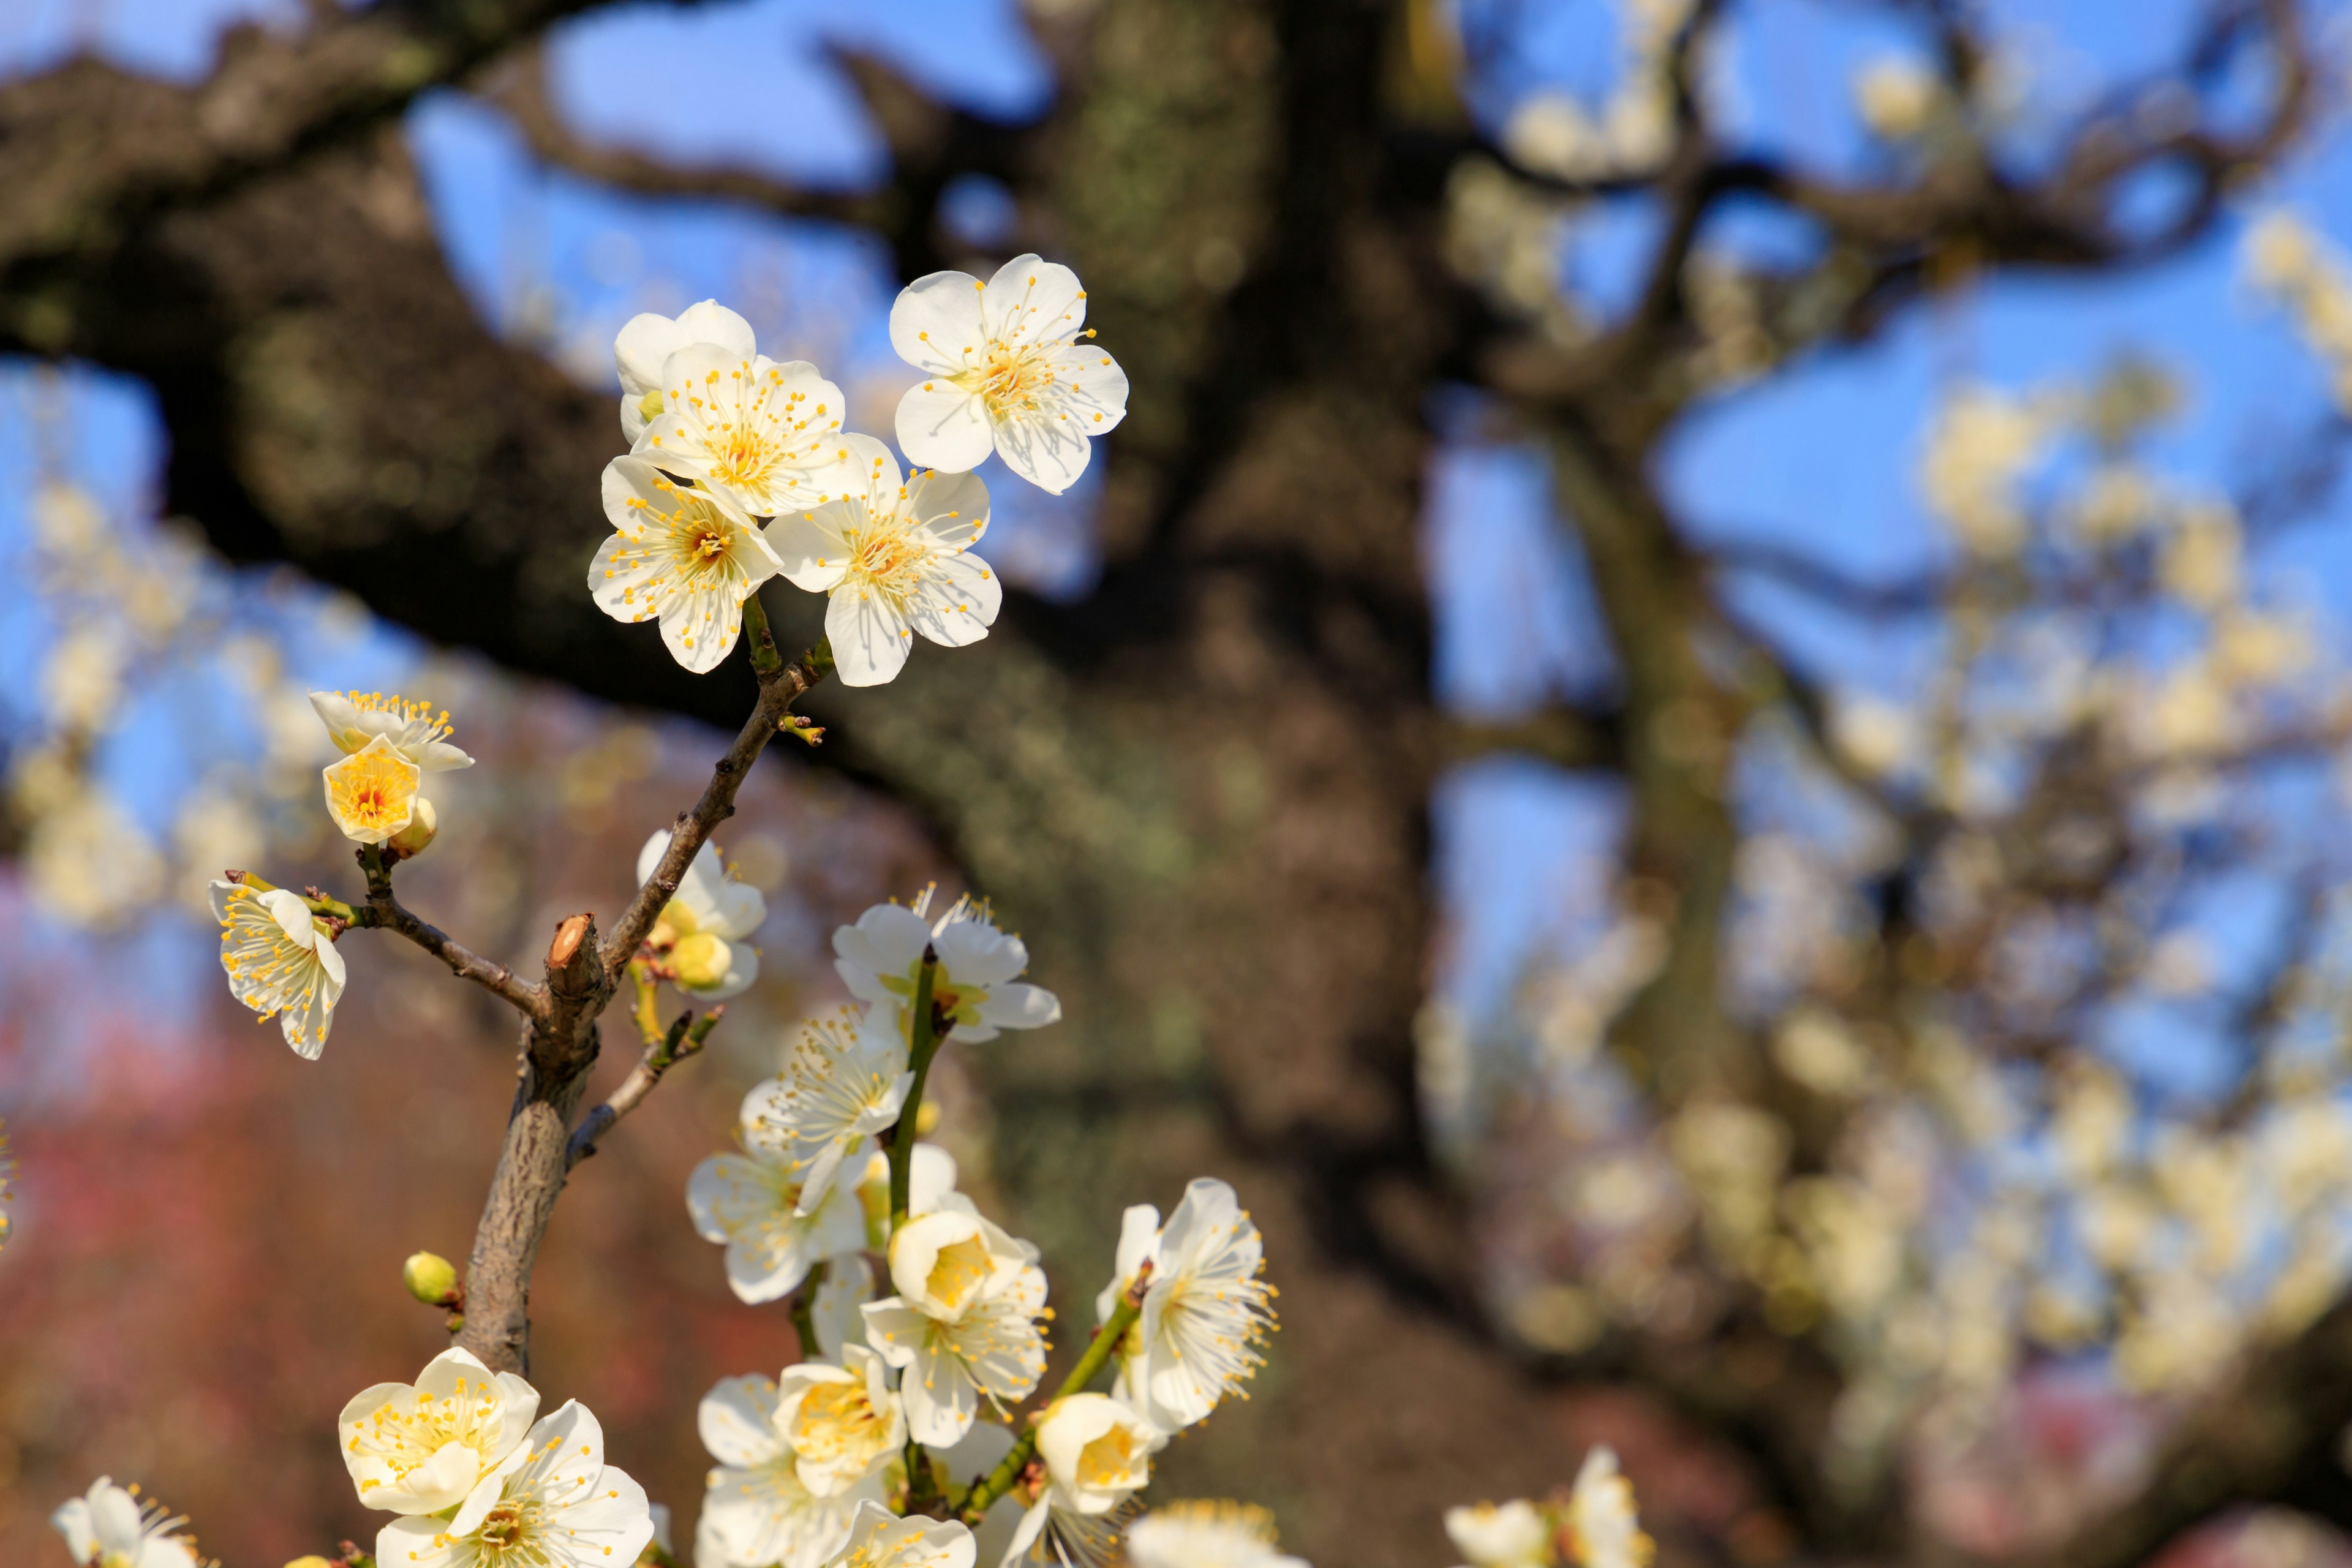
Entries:
{"label": "open white blossom in the middle of the top cluster, overlapping a hidden one", "polygon": [[807,360],[722,343],[687,343],[663,362],[661,414],[630,451],[755,517],[821,505],[851,482],[842,388]]}

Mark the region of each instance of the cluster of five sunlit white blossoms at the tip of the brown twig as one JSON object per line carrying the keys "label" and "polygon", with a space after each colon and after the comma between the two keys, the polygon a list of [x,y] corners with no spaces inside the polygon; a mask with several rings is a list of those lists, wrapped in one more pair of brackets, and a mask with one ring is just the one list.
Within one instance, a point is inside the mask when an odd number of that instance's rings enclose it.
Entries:
{"label": "cluster of five sunlit white blossoms at the tip of the brown twig", "polygon": [[715,670],[743,604],[774,576],[826,595],[826,639],[849,686],[906,668],[917,632],[988,635],[1004,599],[971,548],[988,531],[990,451],[1063,491],[1127,414],[1127,376],[1087,339],[1077,273],[1014,256],[995,277],[917,277],[891,306],[891,346],[924,381],[898,404],[898,456],[844,430],[842,388],[807,360],[760,353],[717,301],[640,315],[614,341],[626,456],[604,468],[614,534],[588,592],[616,621],[656,621],[680,665]]}

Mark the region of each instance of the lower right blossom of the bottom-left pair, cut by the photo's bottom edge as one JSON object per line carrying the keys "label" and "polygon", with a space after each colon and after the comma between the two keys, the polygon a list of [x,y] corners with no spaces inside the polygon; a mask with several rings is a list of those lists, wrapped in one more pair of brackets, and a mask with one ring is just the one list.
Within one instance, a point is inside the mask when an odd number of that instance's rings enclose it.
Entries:
{"label": "lower right blossom of the bottom-left pair, cut by the photo's bottom edge", "polygon": [[515,1460],[485,1476],[456,1516],[395,1519],[376,1533],[388,1568],[612,1568],[654,1540],[644,1488],[604,1462],[604,1432],[581,1401],[529,1429]]}

